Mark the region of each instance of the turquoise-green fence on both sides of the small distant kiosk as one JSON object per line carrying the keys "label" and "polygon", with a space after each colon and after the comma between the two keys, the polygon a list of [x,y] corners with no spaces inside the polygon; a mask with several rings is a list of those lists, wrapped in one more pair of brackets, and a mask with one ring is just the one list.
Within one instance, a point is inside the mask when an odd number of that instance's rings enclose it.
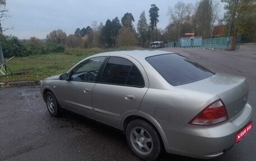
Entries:
{"label": "turquoise-green fence on both sides of the small distant kiosk", "polygon": [[[223,38],[212,38],[212,39],[202,39],[203,48],[220,48],[220,49],[231,49],[232,47],[232,37],[223,37]],[[236,36],[236,49],[239,49],[241,43],[241,35]],[[178,42],[168,42],[168,47],[179,47]]]}

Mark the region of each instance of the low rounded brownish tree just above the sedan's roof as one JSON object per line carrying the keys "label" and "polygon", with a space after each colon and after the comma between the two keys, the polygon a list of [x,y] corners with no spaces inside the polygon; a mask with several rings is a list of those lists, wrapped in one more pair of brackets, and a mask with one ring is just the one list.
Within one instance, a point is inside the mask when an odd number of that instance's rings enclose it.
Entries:
{"label": "low rounded brownish tree just above the sedan's roof", "polygon": [[132,47],[137,44],[136,36],[129,27],[122,27],[118,32],[118,46]]}

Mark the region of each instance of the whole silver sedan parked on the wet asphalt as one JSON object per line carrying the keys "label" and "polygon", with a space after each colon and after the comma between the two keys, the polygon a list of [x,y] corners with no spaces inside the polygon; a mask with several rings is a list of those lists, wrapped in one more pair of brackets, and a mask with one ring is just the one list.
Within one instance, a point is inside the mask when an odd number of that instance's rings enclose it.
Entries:
{"label": "whole silver sedan parked on the wet asphalt", "polygon": [[53,117],[67,109],[118,128],[143,160],[225,153],[253,128],[248,91],[245,77],[163,50],[95,54],[41,84]]}

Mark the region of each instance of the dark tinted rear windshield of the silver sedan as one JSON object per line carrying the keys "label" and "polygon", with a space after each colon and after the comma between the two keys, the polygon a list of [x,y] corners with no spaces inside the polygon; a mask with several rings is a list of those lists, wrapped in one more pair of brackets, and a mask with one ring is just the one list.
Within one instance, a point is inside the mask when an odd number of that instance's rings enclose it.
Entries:
{"label": "dark tinted rear windshield of the silver sedan", "polygon": [[213,72],[179,54],[163,54],[146,60],[171,85],[183,85],[211,77]]}

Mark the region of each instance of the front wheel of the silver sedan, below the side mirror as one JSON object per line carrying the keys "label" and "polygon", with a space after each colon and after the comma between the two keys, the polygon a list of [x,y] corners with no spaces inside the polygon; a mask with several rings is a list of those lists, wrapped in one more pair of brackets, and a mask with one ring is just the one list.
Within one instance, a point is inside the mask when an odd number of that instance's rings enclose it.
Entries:
{"label": "front wheel of the silver sedan, below the side mirror", "polygon": [[53,117],[61,116],[61,107],[58,104],[56,97],[51,91],[48,91],[46,93],[45,99],[46,99],[48,112],[51,114],[51,116]]}

